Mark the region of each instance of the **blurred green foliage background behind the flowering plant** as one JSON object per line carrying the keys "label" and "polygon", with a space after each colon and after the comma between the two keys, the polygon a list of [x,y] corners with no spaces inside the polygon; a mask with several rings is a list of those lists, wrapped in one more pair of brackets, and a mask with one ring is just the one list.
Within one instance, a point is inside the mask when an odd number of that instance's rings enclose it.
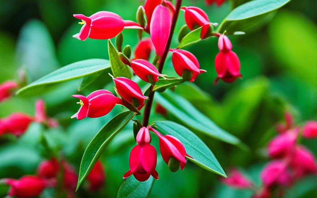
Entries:
{"label": "blurred green foliage background behind the flowering plant", "polygon": [[[23,71],[27,73],[27,81],[32,82],[75,61],[108,59],[107,41],[87,39],[83,42],[72,38],[81,28],[72,15],[90,16],[97,11],[107,10],[119,14],[125,20],[135,21],[135,12],[143,3],[139,0],[1,0],[0,83],[18,79]],[[202,8],[211,22],[218,23],[229,14],[231,8],[229,1],[221,7],[206,7],[203,0],[184,0],[183,5]],[[274,125],[283,119],[283,112],[292,112],[298,124],[308,119],[317,119],[315,8],[315,0],[292,0],[275,12],[270,20],[259,23],[246,35],[229,36],[233,51],[240,58],[243,74],[243,79],[237,79],[233,84],[212,84],[216,78],[216,38],[208,38],[185,48],[197,57],[201,69],[208,72],[199,75],[195,85],[185,83],[178,86],[176,92],[250,148],[248,151],[241,150],[199,134],[225,171],[230,166],[241,167],[260,185],[259,171],[268,161],[264,147],[276,134]],[[175,35],[184,24],[183,15],[181,12]],[[136,30],[124,30],[123,35],[124,45],[129,44],[135,48],[138,42]],[[176,45],[177,36],[174,36],[172,47]],[[173,72],[168,56],[163,73]],[[98,79],[98,83],[87,87],[83,95],[101,89],[106,85],[105,81]],[[78,109],[70,97],[77,93],[78,84],[78,80],[70,81],[39,97],[14,97],[0,103],[0,118],[16,111],[32,115],[35,100],[43,98],[49,115],[61,123],[60,127],[45,132],[50,146],[61,150],[77,170],[84,149],[92,137],[120,111],[120,108],[116,108],[102,118],[70,120],[70,116]],[[152,114],[159,117],[154,112]],[[0,178],[19,178],[35,173],[38,163],[44,157],[37,141],[41,130],[40,125],[32,124],[17,141],[1,143]],[[76,195],[116,197],[122,175],[128,170],[128,156],[134,144],[132,126],[129,125],[115,137],[101,157],[106,173],[105,188],[96,195],[88,195],[84,187],[81,187]],[[303,144],[317,155],[316,140],[305,140]],[[150,197],[250,197],[252,194],[222,185],[219,176],[191,163],[188,163],[184,171],[171,173],[166,164],[159,160],[157,171],[160,179],[154,182]],[[298,190],[304,186],[305,190]],[[288,189],[285,197],[307,197],[317,193],[316,186],[316,177],[304,178],[292,189]],[[1,186],[0,196],[6,190]],[[50,197],[52,194],[54,192],[46,190],[42,196]]]}

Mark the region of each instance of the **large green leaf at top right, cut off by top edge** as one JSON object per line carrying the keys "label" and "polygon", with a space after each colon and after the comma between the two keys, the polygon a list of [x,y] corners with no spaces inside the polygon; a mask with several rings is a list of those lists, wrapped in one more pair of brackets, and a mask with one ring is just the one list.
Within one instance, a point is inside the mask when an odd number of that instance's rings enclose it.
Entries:
{"label": "large green leaf at top right, cut off by top edge", "polygon": [[227,30],[227,34],[236,31],[246,31],[257,25],[265,18],[270,18],[270,13],[284,6],[291,0],[253,0],[244,3],[230,12],[221,22],[217,32],[222,33]]}

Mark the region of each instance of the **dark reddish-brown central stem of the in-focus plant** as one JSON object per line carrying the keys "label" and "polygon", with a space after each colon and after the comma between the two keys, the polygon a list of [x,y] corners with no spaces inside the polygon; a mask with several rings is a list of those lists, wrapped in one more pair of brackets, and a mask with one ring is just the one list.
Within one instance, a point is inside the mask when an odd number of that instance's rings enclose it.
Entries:
{"label": "dark reddish-brown central stem of the in-focus plant", "polygon": [[[167,40],[167,43],[166,43],[166,46],[164,49],[164,53],[161,56],[160,62],[159,62],[159,68],[158,68],[159,73],[162,73],[163,66],[164,66],[164,63],[166,60],[166,56],[167,56],[168,51],[169,51],[170,46],[171,46],[171,41],[173,38],[173,33],[175,30],[175,25],[177,22],[177,18],[178,18],[178,14],[179,14],[179,10],[180,10],[181,5],[182,5],[182,0],[176,0],[175,13],[174,13],[173,18],[172,18],[170,35],[168,37],[168,40]],[[155,93],[155,91],[153,91],[153,87],[154,87],[153,85],[150,87],[149,95],[148,95],[149,99],[146,102],[144,113],[143,113],[143,126],[145,126],[145,127],[147,125],[149,125],[149,118],[150,118],[150,113],[151,113],[151,108],[152,108],[153,98],[154,98],[154,93]]]}

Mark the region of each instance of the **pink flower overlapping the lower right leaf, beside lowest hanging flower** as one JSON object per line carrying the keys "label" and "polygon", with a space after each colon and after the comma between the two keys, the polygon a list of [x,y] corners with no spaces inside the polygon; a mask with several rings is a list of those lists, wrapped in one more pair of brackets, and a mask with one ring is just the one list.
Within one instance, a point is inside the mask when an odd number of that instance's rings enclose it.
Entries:
{"label": "pink flower overlapping the lower right leaf, beside lowest hanging flower", "polygon": [[183,170],[186,165],[185,156],[189,156],[186,153],[184,145],[174,136],[163,136],[152,127],[149,128],[149,130],[153,131],[159,137],[159,147],[162,158],[164,162],[169,165],[171,171],[176,172],[179,167]]}

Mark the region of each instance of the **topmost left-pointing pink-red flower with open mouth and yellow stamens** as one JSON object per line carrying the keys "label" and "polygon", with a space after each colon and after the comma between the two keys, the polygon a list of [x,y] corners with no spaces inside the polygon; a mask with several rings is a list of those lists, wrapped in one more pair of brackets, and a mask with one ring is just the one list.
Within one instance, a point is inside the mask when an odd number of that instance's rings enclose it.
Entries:
{"label": "topmost left-pointing pink-red flower with open mouth and yellow stamens", "polygon": [[143,29],[138,23],[133,21],[124,21],[119,15],[99,11],[89,17],[82,14],[74,14],[75,18],[81,19],[83,24],[80,32],[73,37],[79,40],[92,39],[110,39],[118,35],[124,28]]}

